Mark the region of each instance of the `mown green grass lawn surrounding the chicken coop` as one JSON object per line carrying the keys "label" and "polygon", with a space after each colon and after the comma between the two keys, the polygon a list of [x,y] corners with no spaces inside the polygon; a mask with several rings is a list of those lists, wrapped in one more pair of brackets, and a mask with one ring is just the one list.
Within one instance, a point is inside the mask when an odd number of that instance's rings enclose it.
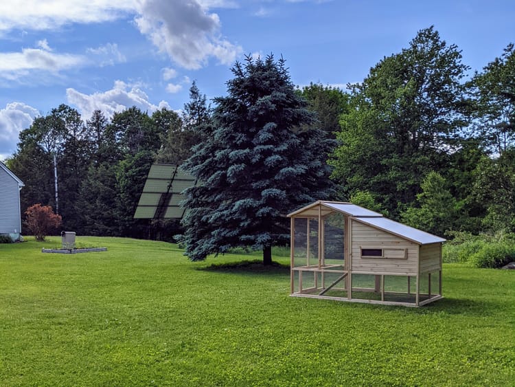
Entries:
{"label": "mown green grass lawn surrounding the chicken coop", "polygon": [[[0,245],[1,386],[514,386],[515,272],[446,264],[421,308],[291,298],[289,270],[176,245]],[[274,256],[288,263],[286,256]]]}

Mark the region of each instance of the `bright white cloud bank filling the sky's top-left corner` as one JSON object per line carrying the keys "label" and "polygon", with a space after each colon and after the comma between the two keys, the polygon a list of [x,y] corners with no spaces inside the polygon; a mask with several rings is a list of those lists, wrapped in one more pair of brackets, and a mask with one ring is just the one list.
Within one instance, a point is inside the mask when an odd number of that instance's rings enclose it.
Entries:
{"label": "bright white cloud bank filling the sky's top-left corner", "polygon": [[55,30],[70,23],[99,23],[134,12],[137,0],[0,1],[0,31]]}

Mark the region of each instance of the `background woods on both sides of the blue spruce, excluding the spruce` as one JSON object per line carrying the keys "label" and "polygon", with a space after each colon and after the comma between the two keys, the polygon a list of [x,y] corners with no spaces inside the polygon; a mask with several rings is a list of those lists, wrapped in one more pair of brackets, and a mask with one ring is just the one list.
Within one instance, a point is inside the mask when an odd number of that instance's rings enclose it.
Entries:
{"label": "background woods on both sides of the blue spruce, excluding the spruce", "polygon": [[[514,46],[472,76],[469,70],[459,47],[429,27],[345,91],[317,83],[297,89],[317,120],[295,131],[321,129],[334,140],[329,150],[306,146],[323,151],[332,168],[330,199],[450,239],[513,232]],[[25,183],[22,211],[50,205],[63,229],[82,235],[171,241],[179,221],[133,214],[150,165],[183,163],[219,124],[214,104],[194,83],[180,115],[132,107],[83,118],[65,104],[52,109],[21,131],[6,160]]]}

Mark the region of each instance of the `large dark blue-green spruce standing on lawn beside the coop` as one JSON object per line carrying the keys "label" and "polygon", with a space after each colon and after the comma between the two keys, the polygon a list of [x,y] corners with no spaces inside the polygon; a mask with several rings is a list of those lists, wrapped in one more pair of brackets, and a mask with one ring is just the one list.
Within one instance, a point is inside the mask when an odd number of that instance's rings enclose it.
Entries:
{"label": "large dark blue-green spruce standing on lawn beside the coop", "polygon": [[183,241],[194,261],[239,246],[271,264],[271,247],[289,241],[286,214],[330,194],[331,144],[322,131],[299,132],[313,117],[282,58],[247,57],[232,72],[212,133],[183,164],[201,182],[187,190]]}

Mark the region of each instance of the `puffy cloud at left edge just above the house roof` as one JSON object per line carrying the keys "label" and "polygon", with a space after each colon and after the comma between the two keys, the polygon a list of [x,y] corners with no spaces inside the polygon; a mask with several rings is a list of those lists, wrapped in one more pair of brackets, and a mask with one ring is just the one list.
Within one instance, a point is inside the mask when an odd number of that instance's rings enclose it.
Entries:
{"label": "puffy cloud at left edge just above the house roof", "polygon": [[20,131],[28,128],[38,115],[36,109],[23,102],[11,102],[0,109],[0,159],[16,151]]}

